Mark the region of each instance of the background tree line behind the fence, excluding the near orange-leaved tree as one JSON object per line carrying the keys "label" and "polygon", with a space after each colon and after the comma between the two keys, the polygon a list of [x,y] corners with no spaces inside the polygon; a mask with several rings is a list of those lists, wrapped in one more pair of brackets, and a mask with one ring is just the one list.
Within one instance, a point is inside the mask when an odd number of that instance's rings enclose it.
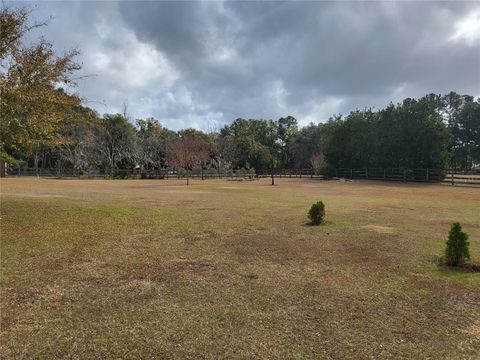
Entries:
{"label": "background tree line behind the fence, excluding the near orange-leaved tree", "polygon": [[[124,115],[99,117],[75,105],[64,111],[56,127],[59,140],[44,144],[39,154],[43,166],[76,171],[93,167],[275,167],[316,172],[332,167],[470,168],[480,162],[480,103],[462,96],[461,106],[446,109],[447,97],[453,95],[405,99],[378,111],[355,110],[303,128],[293,117],[237,119],[218,133],[175,132],[152,118],[133,125]],[[10,155],[35,163],[26,149]]]}

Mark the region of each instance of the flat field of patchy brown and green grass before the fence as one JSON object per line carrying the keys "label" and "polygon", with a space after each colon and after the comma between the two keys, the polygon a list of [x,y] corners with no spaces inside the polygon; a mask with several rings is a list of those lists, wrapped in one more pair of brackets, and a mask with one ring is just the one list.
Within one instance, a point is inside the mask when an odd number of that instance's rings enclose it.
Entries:
{"label": "flat field of patchy brown and green grass before the fence", "polygon": [[479,189],[269,181],[2,180],[0,357],[480,358]]}

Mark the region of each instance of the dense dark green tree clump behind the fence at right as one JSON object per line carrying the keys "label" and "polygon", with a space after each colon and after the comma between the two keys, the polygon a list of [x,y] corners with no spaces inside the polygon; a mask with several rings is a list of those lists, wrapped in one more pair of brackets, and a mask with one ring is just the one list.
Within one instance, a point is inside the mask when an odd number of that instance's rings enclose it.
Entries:
{"label": "dense dark green tree clump behind the fence at right", "polygon": [[469,168],[480,162],[479,101],[430,94],[332,118],[323,128],[325,159],[337,168]]}

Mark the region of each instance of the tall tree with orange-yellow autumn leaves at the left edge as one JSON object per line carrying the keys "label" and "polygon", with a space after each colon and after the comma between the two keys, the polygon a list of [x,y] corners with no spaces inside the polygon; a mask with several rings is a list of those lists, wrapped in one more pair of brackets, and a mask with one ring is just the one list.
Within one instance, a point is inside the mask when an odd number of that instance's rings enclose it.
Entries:
{"label": "tall tree with orange-yellow autumn leaves at the left edge", "polygon": [[43,147],[61,141],[65,110],[80,99],[58,87],[74,85],[77,50],[58,56],[44,39],[26,45],[25,35],[46,23],[31,23],[24,7],[0,9],[0,147],[13,155],[27,155],[38,164]]}

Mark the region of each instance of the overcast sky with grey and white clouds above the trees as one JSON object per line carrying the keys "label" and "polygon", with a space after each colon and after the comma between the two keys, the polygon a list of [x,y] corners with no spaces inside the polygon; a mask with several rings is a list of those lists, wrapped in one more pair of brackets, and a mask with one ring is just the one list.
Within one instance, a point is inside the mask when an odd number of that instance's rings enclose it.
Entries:
{"label": "overcast sky with grey and white clouds above the trees", "polygon": [[81,50],[88,106],[127,102],[132,119],[172,129],[287,115],[305,125],[431,92],[480,96],[479,2],[27,5],[54,17],[41,32],[58,50]]}

